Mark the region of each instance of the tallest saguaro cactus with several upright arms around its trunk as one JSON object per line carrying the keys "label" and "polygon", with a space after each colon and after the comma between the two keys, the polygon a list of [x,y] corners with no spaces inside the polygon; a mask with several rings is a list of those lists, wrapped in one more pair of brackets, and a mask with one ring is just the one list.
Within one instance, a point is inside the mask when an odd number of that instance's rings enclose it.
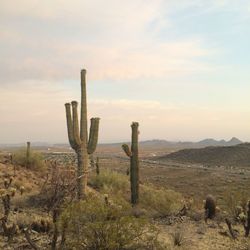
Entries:
{"label": "tallest saguaro cactus with several upright arms around its trunk", "polygon": [[87,189],[88,154],[93,154],[96,149],[100,120],[100,118],[91,118],[90,133],[88,137],[85,69],[81,70],[80,129],[77,106],[78,103],[76,101],[72,101],[71,104],[65,104],[69,143],[77,154],[77,196],[78,199],[82,199]]}

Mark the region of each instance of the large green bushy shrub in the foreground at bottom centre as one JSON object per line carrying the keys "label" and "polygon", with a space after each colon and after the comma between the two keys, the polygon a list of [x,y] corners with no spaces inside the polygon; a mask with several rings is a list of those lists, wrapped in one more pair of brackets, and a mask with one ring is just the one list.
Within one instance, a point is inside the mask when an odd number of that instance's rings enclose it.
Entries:
{"label": "large green bushy shrub in the foreground at bottom centre", "polygon": [[161,249],[155,226],[101,197],[72,204],[59,222],[61,230],[67,228],[65,249]]}

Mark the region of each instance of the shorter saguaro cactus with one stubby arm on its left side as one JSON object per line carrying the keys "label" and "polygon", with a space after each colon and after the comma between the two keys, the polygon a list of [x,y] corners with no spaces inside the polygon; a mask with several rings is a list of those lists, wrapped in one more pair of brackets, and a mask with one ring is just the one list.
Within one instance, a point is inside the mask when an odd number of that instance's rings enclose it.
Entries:
{"label": "shorter saguaro cactus with one stubby arm on its left side", "polygon": [[131,124],[132,143],[131,149],[127,144],[122,145],[125,154],[130,157],[130,187],[131,187],[131,203],[136,205],[139,202],[139,158],[138,158],[138,122]]}

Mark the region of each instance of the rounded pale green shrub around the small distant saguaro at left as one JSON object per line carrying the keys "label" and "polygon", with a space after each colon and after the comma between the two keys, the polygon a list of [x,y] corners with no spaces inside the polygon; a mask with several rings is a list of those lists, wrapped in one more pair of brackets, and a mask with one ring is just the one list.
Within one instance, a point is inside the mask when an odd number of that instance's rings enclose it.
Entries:
{"label": "rounded pale green shrub around the small distant saguaro at left", "polygon": [[[14,153],[13,160],[15,164],[26,167],[26,149],[20,149]],[[44,169],[45,164],[43,161],[43,155],[39,152],[30,152],[29,168],[35,170]]]}

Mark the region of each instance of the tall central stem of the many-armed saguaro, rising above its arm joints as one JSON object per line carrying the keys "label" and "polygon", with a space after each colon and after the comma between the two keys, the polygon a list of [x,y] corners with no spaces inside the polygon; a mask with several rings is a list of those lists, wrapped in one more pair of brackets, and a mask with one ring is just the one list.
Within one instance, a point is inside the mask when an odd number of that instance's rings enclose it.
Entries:
{"label": "tall central stem of the many-armed saguaro, rising above its arm joints", "polygon": [[87,96],[86,96],[86,73],[85,69],[81,70],[81,121],[80,121],[80,138],[84,145],[88,141],[88,121],[87,121]]}

